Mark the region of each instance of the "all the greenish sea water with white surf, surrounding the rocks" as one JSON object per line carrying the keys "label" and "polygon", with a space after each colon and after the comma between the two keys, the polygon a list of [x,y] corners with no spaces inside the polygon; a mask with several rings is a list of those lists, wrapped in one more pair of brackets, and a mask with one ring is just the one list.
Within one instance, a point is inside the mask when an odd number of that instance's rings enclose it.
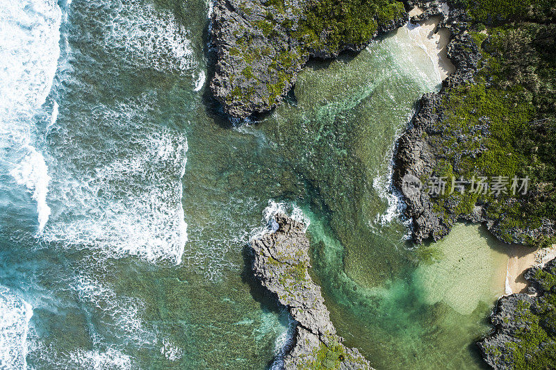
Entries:
{"label": "all the greenish sea water with white surf, surrounding the rocks", "polygon": [[[395,137],[439,88],[411,32],[310,65],[295,101],[233,126],[207,101],[203,1],[2,7],[1,367],[269,367],[288,315],[245,247],[269,199],[311,220],[334,323],[377,369],[480,367],[498,292],[466,274],[475,307],[450,301],[461,238],[420,260],[388,191]],[[462,257],[501,259],[461,233]]]}

